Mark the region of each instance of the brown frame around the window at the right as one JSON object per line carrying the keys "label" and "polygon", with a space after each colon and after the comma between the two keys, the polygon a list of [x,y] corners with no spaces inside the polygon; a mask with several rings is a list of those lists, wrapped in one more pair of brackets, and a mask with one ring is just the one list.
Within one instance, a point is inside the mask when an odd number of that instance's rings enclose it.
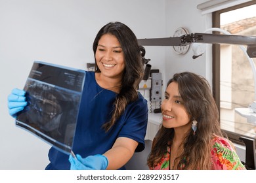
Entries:
{"label": "brown frame around the window at the right", "polygon": [[[221,26],[221,20],[220,16],[221,13],[223,12],[228,12],[230,10],[236,10],[238,8],[244,8],[250,5],[256,5],[255,1],[249,1],[247,3],[242,3],[240,5],[236,5],[234,7],[229,7],[229,8],[224,8],[223,10],[218,10],[216,12],[212,13],[212,26],[213,27],[218,27],[220,28]],[[213,31],[215,34],[220,34],[217,31]],[[217,107],[220,110],[220,95],[221,95],[221,90],[220,90],[220,81],[221,81],[221,46],[220,44],[213,44],[212,46],[212,52],[213,52],[213,97],[215,99],[215,103],[217,104]],[[236,144],[241,144],[244,145],[244,142],[240,141],[240,135],[239,133],[234,133],[231,131],[226,131],[223,130],[224,133],[228,136],[228,139],[230,141],[236,143]],[[250,137],[249,137],[250,138]]]}

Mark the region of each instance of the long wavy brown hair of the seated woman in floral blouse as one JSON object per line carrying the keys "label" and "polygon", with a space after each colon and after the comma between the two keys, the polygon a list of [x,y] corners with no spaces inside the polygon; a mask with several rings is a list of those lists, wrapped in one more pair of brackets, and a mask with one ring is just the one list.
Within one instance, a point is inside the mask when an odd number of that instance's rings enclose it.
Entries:
{"label": "long wavy brown hair of the seated woman in floral blouse", "polygon": [[[191,129],[182,143],[183,152],[177,159],[186,159],[182,169],[211,169],[211,141],[213,135],[223,137],[223,133],[219,122],[219,110],[209,83],[202,76],[190,72],[173,75],[167,86],[171,82],[177,82],[179,86],[179,93],[190,116],[190,122],[198,122],[196,134],[194,135]],[[173,136],[173,128],[167,129],[161,125],[148,158],[150,167],[160,162]],[[179,169],[182,163],[184,161],[175,161],[174,169]]]}

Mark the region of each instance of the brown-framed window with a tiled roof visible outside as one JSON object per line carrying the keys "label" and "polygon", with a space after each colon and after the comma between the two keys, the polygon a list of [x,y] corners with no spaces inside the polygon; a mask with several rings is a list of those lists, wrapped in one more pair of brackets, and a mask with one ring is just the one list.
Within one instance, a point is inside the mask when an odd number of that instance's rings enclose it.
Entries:
{"label": "brown-framed window with a tiled roof visible outside", "polygon": [[[213,13],[213,27],[232,35],[256,36],[256,3],[244,3]],[[252,58],[256,63],[256,58]],[[255,98],[253,70],[239,45],[213,45],[213,95],[219,107],[221,128],[232,141],[240,136],[256,139],[256,124],[247,122],[235,108],[247,108]]]}

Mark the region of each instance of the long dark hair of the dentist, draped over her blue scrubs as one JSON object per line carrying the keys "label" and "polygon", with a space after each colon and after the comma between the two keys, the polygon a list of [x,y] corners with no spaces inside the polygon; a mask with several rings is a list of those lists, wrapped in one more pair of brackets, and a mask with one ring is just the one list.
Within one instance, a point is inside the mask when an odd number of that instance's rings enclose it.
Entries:
{"label": "long dark hair of the dentist, draped over her blue scrubs", "polygon": [[[137,42],[137,37],[131,31],[127,25],[121,22],[110,22],[104,25],[98,34],[96,35],[95,41],[93,42],[93,52],[96,53],[98,41],[102,35],[110,34],[114,35],[123,50],[125,58],[125,71],[123,72],[123,78],[121,80],[121,90],[117,95],[116,101],[114,102],[115,108],[112,112],[112,118],[109,122],[104,124],[104,129],[108,131],[116,120],[123,114],[125,107],[138,99],[137,89],[139,83],[142,80],[144,70],[142,56],[140,55],[140,48]],[[95,59],[95,72],[100,73]]]}

